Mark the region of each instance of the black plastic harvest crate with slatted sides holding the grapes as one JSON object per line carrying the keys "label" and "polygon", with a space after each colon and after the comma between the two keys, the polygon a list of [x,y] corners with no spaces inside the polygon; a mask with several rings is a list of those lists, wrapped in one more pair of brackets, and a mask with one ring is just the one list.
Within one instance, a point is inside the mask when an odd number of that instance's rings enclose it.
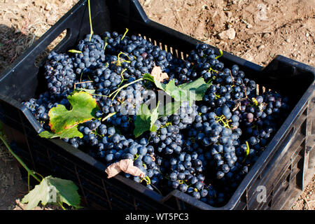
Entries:
{"label": "black plastic harvest crate with slatted sides holding the grapes", "polygon": [[[118,31],[141,34],[161,48],[185,59],[200,41],[149,20],[137,0],[91,1],[96,34]],[[90,33],[87,1],[79,1],[0,76],[0,120],[13,148],[27,165],[41,174],[74,181],[83,205],[94,209],[289,209],[314,175],[315,69],[281,55],[266,67],[223,53],[221,61],[239,65],[257,90],[275,90],[290,98],[292,111],[264,153],[251,167],[224,207],[211,207],[174,190],[159,195],[118,175],[107,179],[102,162],[59,139],[42,139],[42,131],[21,102],[45,89],[35,59],[66,29],[57,52],[66,52]],[[218,53],[218,49],[214,48]],[[258,202],[258,186],[265,186],[266,202]]]}

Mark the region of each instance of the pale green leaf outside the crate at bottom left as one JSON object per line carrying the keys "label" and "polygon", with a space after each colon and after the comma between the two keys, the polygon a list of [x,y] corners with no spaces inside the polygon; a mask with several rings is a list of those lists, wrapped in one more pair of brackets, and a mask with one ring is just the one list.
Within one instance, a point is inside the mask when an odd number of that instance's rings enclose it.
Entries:
{"label": "pale green leaf outside the crate at bottom left", "polygon": [[72,181],[46,176],[41,183],[35,186],[25,197],[22,203],[27,203],[27,209],[34,209],[41,202],[45,204],[63,203],[80,208],[80,195],[78,194],[78,186]]}

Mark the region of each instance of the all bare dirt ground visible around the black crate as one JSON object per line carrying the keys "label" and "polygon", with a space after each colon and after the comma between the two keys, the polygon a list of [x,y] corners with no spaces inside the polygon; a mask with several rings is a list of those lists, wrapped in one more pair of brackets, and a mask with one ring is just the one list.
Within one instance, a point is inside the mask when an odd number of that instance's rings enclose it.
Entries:
{"label": "all bare dirt ground visible around the black crate", "polygon": [[[0,72],[76,2],[0,0]],[[151,20],[256,64],[265,66],[283,55],[315,66],[315,0],[139,2]],[[315,178],[291,209],[314,210],[314,191]],[[26,193],[17,162],[1,146],[0,209],[23,209],[19,199]]]}

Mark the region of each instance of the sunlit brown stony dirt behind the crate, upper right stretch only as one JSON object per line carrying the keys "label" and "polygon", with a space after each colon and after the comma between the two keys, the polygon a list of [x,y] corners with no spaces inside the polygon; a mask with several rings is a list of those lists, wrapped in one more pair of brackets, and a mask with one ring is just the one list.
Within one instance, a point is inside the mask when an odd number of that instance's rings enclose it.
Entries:
{"label": "sunlit brown stony dirt behind the crate, upper right stretch only", "polygon": [[151,20],[265,66],[275,55],[315,65],[314,0],[140,0]]}

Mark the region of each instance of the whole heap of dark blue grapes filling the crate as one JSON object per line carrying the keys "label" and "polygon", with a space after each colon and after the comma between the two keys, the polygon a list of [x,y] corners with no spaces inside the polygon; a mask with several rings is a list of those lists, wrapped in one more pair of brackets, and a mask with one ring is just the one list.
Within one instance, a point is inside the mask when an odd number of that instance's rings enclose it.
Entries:
{"label": "whole heap of dark blue grapes filling the crate", "polygon": [[[211,85],[202,100],[181,102],[176,113],[159,116],[154,132],[134,138],[137,111],[158,94],[154,83],[139,80],[154,66],[176,85],[200,77]],[[133,160],[146,178],[125,176],[151,190],[180,190],[216,207],[230,199],[289,111],[286,97],[257,94],[255,81],[236,64],[226,67],[207,44],[179,59],[142,36],[116,31],[87,35],[69,54],[51,52],[45,78],[47,91],[23,102],[45,130],[50,109],[71,109],[70,94],[90,92],[99,111],[78,125],[83,138],[64,141],[106,165]]]}

